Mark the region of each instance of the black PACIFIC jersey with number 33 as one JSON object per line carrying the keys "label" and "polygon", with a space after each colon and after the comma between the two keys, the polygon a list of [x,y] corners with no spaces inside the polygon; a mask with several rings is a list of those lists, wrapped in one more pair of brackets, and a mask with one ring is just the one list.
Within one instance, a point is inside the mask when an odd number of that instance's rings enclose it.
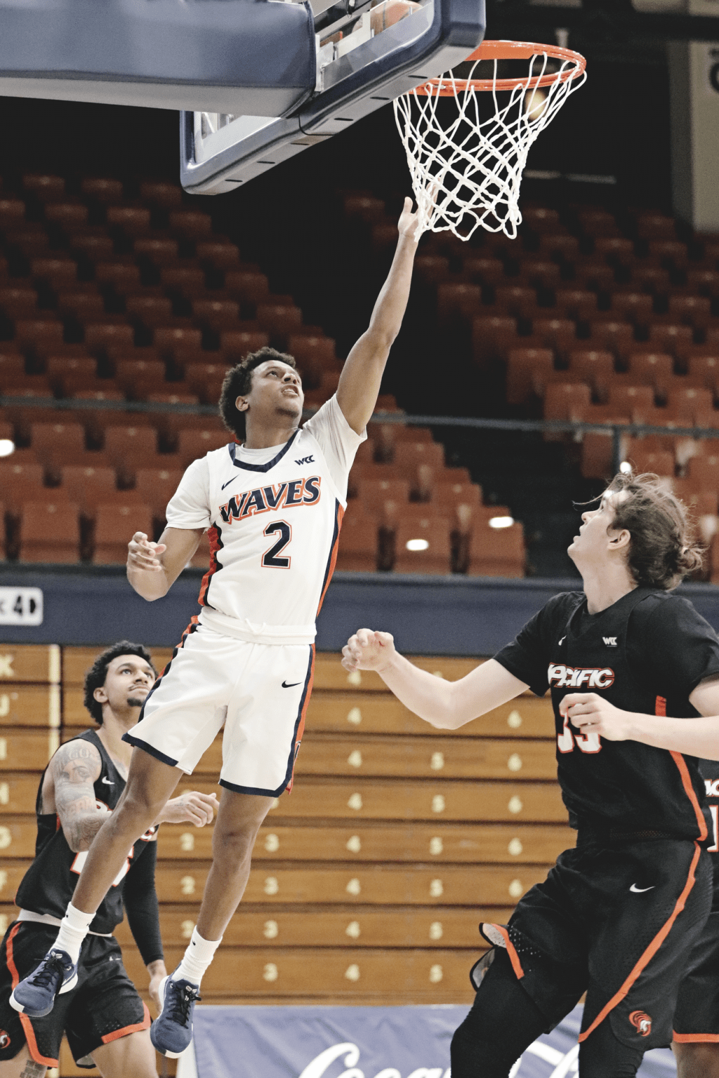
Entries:
{"label": "black PACIFIC jersey with number 33", "polygon": [[[672,603],[674,607],[667,606]],[[637,622],[635,611],[642,604],[649,606]],[[692,618],[702,623],[699,636],[691,628],[682,639],[676,627],[682,618],[692,626]],[[662,673],[651,662],[641,662],[642,652],[652,647],[652,632],[658,640],[664,638],[658,631],[667,630],[666,624],[662,626],[667,620],[675,628],[674,636],[668,635],[677,664],[682,662],[682,649],[694,646],[695,637],[702,641],[696,644],[703,649],[701,662],[692,658],[683,680],[672,669]],[[547,663],[541,679],[537,651]],[[626,711],[695,716],[688,697],[702,677],[719,672],[719,640],[691,604],[666,592],[637,588],[606,610],[589,616],[583,593],[565,594],[552,599],[496,659],[539,694],[548,686],[551,690],[557,776],[573,827],[589,824],[700,840],[711,833],[704,780],[694,757],[635,741],[582,734],[559,715],[559,703],[568,693],[595,692]]]}

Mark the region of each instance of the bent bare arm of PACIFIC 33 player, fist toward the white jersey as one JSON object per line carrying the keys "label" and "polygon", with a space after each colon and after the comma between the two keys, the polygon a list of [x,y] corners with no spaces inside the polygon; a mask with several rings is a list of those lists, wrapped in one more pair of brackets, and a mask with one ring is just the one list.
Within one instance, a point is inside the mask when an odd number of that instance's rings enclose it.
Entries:
{"label": "bent bare arm of PACIFIC 33 player, fist toward the white jersey", "polygon": [[458,681],[445,681],[401,655],[391,633],[375,633],[370,628],[360,628],[351,636],[342,654],[345,669],[376,671],[405,707],[442,730],[457,730],[514,700],[527,688],[494,659]]}

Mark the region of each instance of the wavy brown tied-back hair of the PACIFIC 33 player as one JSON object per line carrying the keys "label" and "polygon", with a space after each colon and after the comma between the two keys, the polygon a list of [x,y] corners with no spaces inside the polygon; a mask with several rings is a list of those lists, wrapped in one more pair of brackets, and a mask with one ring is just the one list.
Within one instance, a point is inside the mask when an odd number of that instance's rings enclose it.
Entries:
{"label": "wavy brown tied-back hair of the PACIFIC 33 player", "polygon": [[670,591],[701,568],[694,522],[659,475],[620,473],[607,489],[625,495],[616,503],[613,527],[632,537],[628,567],[637,584]]}

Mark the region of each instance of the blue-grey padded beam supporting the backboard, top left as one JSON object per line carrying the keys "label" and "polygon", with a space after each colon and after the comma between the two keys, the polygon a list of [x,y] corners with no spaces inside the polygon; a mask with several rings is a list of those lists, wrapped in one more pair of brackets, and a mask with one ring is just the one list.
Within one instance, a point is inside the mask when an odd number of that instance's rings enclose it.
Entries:
{"label": "blue-grey padded beam supporting the backboard, top left", "polygon": [[281,116],[316,81],[308,3],[0,0],[0,94]]}

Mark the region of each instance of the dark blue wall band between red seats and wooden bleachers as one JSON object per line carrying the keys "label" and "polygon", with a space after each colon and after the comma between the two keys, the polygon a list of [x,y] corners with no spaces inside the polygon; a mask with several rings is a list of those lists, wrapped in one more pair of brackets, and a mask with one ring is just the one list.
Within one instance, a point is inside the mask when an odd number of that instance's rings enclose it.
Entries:
{"label": "dark blue wall band between red seats and wooden bleachers", "polygon": [[[199,613],[202,576],[185,569],[164,598],[146,603],[127,583],[124,565],[0,563],[0,586],[41,588],[44,610],[34,627],[0,624],[0,644],[99,645],[126,637],[170,647]],[[553,595],[578,589],[578,579],[335,572],[317,621],[317,648],[338,651],[365,627],[393,633],[409,654],[492,655]],[[719,588],[683,584],[679,593],[719,631]]]}

